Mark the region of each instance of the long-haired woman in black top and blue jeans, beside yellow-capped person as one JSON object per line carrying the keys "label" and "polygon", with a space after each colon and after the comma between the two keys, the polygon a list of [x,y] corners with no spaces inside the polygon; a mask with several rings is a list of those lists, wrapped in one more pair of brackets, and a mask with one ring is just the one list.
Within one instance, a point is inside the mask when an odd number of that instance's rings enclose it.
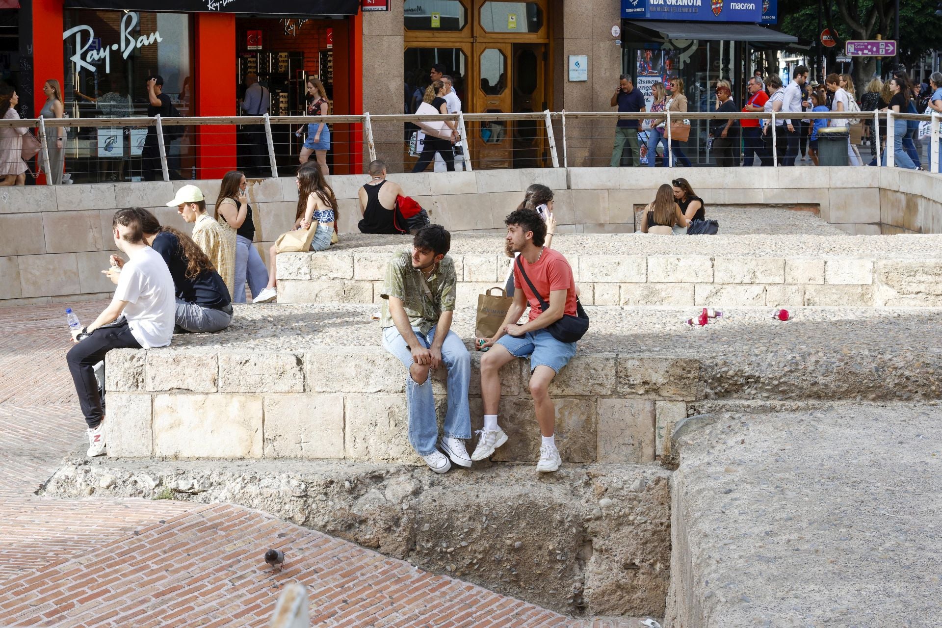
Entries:
{"label": "long-haired woman in black top and blue jeans, beside yellow-capped person", "polygon": [[255,239],[255,223],[252,220],[252,205],[247,194],[245,174],[230,170],[222,177],[219,197],[216,200],[215,218],[227,238],[235,241],[235,269],[233,274],[233,302],[245,303],[245,282],[249,281],[252,298],[265,289],[268,269],[258,250],[252,245]]}

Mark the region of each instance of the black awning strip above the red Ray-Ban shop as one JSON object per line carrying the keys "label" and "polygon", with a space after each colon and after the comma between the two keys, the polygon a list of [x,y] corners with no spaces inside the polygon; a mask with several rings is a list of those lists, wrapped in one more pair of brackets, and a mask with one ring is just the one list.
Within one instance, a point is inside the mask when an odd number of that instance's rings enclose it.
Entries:
{"label": "black awning strip above the red Ray-Ban shop", "polygon": [[356,15],[359,0],[65,0],[65,8],[169,13],[243,13],[269,17]]}

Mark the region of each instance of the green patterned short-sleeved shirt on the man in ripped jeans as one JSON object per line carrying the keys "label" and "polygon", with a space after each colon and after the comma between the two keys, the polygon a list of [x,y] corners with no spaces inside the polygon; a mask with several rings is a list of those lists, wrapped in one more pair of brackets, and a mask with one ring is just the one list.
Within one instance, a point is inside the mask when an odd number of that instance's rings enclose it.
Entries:
{"label": "green patterned short-sleeved shirt on the man in ripped jeans", "polygon": [[412,265],[412,251],[404,250],[389,260],[386,265],[386,279],[382,286],[382,321],[383,329],[394,327],[393,317],[389,314],[389,298],[402,299],[409,324],[422,333],[429,333],[443,312],[455,309],[455,264],[447,255],[438,263],[425,283],[429,286],[431,298],[422,287],[422,273]]}

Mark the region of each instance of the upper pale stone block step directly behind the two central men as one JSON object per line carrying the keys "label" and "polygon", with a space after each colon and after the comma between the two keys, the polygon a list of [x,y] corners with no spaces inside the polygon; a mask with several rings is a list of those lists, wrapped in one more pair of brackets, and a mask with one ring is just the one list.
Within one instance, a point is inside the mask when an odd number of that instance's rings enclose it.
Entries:
{"label": "upper pale stone block step directly behind the two central men", "polygon": [[[587,305],[942,306],[942,235],[558,235]],[[331,250],[278,256],[282,303],[379,303],[385,266],[410,246],[346,235]],[[458,302],[503,285],[511,259],[495,234],[460,233],[450,256]]]}

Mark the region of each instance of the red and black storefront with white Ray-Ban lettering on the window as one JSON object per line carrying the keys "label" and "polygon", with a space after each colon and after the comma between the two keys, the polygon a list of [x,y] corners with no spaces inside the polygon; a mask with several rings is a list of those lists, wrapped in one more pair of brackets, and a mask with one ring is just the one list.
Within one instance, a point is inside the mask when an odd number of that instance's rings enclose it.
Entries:
{"label": "red and black storefront with white Ray-Ban lettering on the window", "polygon": [[[25,13],[21,57],[28,53],[32,61],[20,68],[16,86],[24,117],[39,115],[46,100],[42,86],[49,79],[62,87],[68,118],[144,117],[150,100],[147,79],[155,74],[163,78],[163,93],[181,116],[237,116],[247,56],[247,42],[240,36],[245,39],[242,31],[249,23],[273,24],[279,34],[293,32],[299,47],[317,35],[326,40],[323,35],[330,32],[338,53],[330,65],[333,113],[358,113],[361,107],[362,84],[350,78],[362,74],[357,67],[362,56],[356,54],[362,46],[357,0],[22,0],[20,11]],[[284,38],[278,43],[287,45]],[[278,54],[254,56],[261,66],[263,56]],[[293,78],[301,85],[306,76],[326,71],[317,50],[292,58],[298,74]],[[263,72],[257,73],[262,82]],[[275,92],[269,94],[270,114],[293,115],[282,111],[276,89],[270,89]],[[337,139],[352,144],[354,132],[348,133]],[[73,126],[65,142],[65,169],[77,183],[138,181],[146,135],[146,128],[131,125]],[[235,125],[188,126],[182,134],[167,135],[171,178],[214,178],[236,167]]]}

